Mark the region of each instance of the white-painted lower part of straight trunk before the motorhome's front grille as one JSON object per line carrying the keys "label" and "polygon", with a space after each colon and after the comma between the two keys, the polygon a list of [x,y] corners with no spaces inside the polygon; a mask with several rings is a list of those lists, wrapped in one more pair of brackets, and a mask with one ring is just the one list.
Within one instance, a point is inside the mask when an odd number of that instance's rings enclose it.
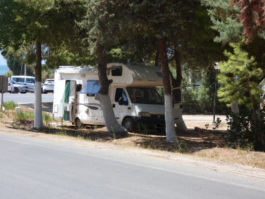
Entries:
{"label": "white-painted lower part of straight trunk before the motorhome's front grille", "polygon": [[172,95],[165,96],[165,125],[166,139],[168,142],[176,142],[177,134],[175,130],[175,121],[173,116]]}

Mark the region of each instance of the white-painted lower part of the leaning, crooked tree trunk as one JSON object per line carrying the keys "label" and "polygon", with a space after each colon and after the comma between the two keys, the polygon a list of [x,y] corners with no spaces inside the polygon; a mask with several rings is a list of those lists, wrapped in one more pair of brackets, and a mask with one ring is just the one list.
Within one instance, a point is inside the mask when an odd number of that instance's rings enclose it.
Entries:
{"label": "white-painted lower part of the leaning, crooked tree trunk", "polygon": [[115,114],[110,101],[110,96],[97,93],[95,96],[95,100],[100,101],[101,109],[103,111],[103,117],[108,131],[110,133],[127,132],[127,130],[122,125],[120,125],[117,119],[115,118]]}

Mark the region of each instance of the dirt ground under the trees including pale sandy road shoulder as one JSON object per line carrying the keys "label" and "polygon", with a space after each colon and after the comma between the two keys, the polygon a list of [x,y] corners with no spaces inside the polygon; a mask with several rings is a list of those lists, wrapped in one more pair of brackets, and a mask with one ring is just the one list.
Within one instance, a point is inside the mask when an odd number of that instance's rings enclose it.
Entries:
{"label": "dirt ground under the trees including pale sandy road shoulder", "polygon": [[[49,104],[43,103],[43,109]],[[23,111],[33,111],[30,107],[20,106]],[[198,118],[198,116],[197,116]],[[185,120],[185,119],[184,119]],[[223,121],[223,120],[222,120]],[[265,153],[231,148],[228,142],[227,125],[222,122],[218,130],[213,130],[205,121],[187,121],[187,132],[177,131],[178,143],[166,142],[165,135],[156,131],[110,134],[106,127],[86,126],[75,129],[69,123],[50,121],[39,131],[34,129],[34,121],[23,124],[14,120],[14,111],[1,112],[1,133],[31,136],[54,142],[78,146],[97,147],[140,156],[161,158],[192,167],[228,172],[234,175],[253,177],[265,181]]]}

